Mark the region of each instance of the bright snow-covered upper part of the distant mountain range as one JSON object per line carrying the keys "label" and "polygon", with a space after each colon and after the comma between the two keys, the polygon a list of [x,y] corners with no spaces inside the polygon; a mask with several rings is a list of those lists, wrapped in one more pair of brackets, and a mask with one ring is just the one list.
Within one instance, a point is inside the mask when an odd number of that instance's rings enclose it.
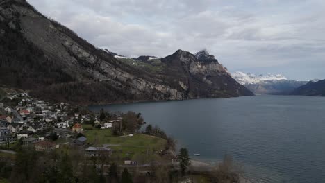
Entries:
{"label": "bright snow-covered upper part of the distant mountain range", "polygon": [[282,74],[260,74],[255,75],[252,73],[243,73],[241,71],[235,72],[232,74],[233,78],[237,80],[242,85],[248,85],[248,84],[256,84],[263,81],[268,80],[288,80],[288,78],[285,78]]}

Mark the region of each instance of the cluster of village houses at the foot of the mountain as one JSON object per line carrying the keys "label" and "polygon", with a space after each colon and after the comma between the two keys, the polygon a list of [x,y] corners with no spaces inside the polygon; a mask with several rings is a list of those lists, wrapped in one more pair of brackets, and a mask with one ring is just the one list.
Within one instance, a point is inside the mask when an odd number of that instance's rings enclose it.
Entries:
{"label": "cluster of village houses at the foot of the mountain", "polygon": [[58,145],[44,139],[56,134],[59,138],[67,139],[66,144],[84,147],[87,155],[99,156],[111,153],[108,147],[88,147],[86,137],[73,139],[72,134],[82,133],[82,124],[91,120],[100,129],[113,128],[113,123],[122,120],[120,117],[101,123],[98,120],[99,116],[72,112],[67,103],[47,103],[31,98],[26,93],[7,97],[17,101],[17,105],[14,107],[0,103],[0,145],[22,139],[23,146],[33,145],[38,151],[52,150],[58,148]]}

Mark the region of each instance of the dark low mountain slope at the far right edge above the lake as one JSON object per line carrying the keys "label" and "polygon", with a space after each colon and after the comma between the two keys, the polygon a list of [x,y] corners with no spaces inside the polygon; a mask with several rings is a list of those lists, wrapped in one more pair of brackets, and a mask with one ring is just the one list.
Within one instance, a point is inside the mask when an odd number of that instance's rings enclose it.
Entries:
{"label": "dark low mountain slope at the far right edge above the lake", "polygon": [[306,85],[294,89],[292,95],[303,96],[325,96],[325,80],[319,80],[317,82],[310,81]]}

